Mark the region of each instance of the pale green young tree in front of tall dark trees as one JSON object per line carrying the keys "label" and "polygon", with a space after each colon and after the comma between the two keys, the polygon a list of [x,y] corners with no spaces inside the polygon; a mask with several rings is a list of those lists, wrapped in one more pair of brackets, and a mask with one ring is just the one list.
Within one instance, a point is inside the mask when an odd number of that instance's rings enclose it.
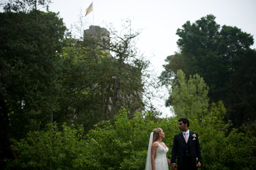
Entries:
{"label": "pale green young tree in front of tall dark trees", "polygon": [[175,83],[172,81],[172,89],[169,89],[170,97],[166,101],[166,106],[172,105],[177,117],[189,119],[193,115],[197,117],[206,115],[209,88],[204,83],[203,78],[195,74],[193,77],[190,75],[187,81],[182,70],[178,70],[176,81]]}

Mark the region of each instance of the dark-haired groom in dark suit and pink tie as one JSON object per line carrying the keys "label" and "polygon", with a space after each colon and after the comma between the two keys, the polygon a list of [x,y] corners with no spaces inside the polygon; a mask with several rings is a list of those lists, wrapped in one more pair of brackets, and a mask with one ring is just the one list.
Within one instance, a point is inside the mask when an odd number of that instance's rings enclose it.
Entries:
{"label": "dark-haired groom in dark suit and pink tie", "polygon": [[[180,118],[179,128],[181,133],[174,135],[172,145],[171,166],[173,170],[197,170],[201,167],[201,151],[197,133],[188,130],[189,120]],[[178,162],[176,165],[176,157],[178,154]],[[196,166],[196,158],[200,161],[199,166]],[[198,164],[197,161],[197,164]]]}

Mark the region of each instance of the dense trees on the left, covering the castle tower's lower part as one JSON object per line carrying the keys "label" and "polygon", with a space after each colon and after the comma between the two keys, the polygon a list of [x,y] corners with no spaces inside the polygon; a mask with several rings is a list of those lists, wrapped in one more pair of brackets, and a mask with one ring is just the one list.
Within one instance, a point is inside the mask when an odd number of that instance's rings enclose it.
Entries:
{"label": "dense trees on the left, covering the castle tower's lower part", "polygon": [[104,44],[101,35],[75,38],[58,13],[37,10],[49,2],[10,1],[0,13],[1,166],[19,157],[11,139],[48,123],[83,125],[87,133],[120,109],[130,117],[155,111],[146,89],[149,63],[134,42],[140,31],[129,30],[128,20],[121,37],[110,27]]}

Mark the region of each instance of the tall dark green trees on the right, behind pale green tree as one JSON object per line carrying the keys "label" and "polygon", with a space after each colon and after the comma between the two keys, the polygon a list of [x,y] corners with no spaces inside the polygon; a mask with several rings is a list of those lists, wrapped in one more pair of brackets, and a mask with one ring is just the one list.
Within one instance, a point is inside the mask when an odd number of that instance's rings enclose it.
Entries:
{"label": "tall dark green trees on the right, behind pale green tree", "polygon": [[[166,58],[165,71],[160,76],[163,83],[174,85],[178,70],[189,75],[198,74],[209,87],[210,102],[223,100],[227,108],[225,120],[232,120],[233,127],[255,119],[256,112],[256,51],[250,49],[253,36],[237,27],[222,26],[213,15],[207,15],[191,24],[187,21],[177,44],[180,52]],[[166,105],[172,105],[169,98]]]}

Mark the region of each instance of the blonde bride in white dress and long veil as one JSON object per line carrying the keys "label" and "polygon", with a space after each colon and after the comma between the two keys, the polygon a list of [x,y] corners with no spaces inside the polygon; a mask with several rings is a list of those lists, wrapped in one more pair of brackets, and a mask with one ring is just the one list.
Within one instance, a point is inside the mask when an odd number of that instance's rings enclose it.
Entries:
{"label": "blonde bride in white dress and long veil", "polygon": [[156,128],[151,132],[148,143],[148,155],[145,170],[168,170],[171,161],[166,157],[169,149],[162,142],[164,132],[161,128]]}

